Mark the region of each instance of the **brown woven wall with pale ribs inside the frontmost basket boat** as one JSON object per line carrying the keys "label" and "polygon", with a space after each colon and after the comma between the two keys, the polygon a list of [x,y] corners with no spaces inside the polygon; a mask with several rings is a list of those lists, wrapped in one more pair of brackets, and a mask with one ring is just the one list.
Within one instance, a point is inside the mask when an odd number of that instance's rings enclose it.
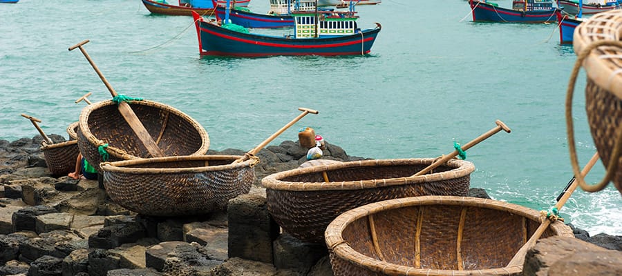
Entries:
{"label": "brown woven wall with pale ribs inside the frontmost basket boat", "polygon": [[[464,198],[464,201],[469,200]],[[351,262],[357,259],[362,261],[357,254],[412,268],[394,271],[395,273],[391,275],[407,275],[406,270],[410,270],[408,275],[466,275],[469,273],[466,270],[471,270],[473,275],[478,275],[477,270],[489,270],[498,275],[520,275],[515,272],[505,273],[507,270],[504,270],[504,267],[540,225],[535,210],[525,217],[509,210],[487,208],[481,204],[481,206],[466,204],[460,206],[442,204],[442,199],[439,201],[441,202],[439,204],[422,206],[399,206],[401,203],[392,202],[378,212],[366,207],[355,209],[360,213],[369,212],[371,215],[359,217],[343,228],[341,237],[355,253],[344,256],[340,255],[347,254],[343,251],[331,252],[330,262],[334,275],[388,274],[375,272],[386,269],[386,264],[364,262],[375,266],[376,270],[371,270]],[[511,208],[509,205],[507,207]],[[349,215],[355,210],[344,215]],[[458,233],[463,212],[464,224],[460,238],[461,267],[459,267]],[[379,252],[384,258],[379,257],[373,244],[370,216],[373,217]],[[420,228],[418,238],[417,228]],[[556,222],[549,226],[540,238],[552,235],[572,236],[572,231],[563,223]],[[418,265],[415,243],[417,239],[420,248]]]}

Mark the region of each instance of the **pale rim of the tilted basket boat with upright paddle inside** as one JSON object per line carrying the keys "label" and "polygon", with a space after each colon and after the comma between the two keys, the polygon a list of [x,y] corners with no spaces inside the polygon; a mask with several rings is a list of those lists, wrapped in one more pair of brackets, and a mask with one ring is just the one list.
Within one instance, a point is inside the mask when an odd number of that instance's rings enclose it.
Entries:
{"label": "pale rim of the tilted basket boat with upright paddle inside", "polygon": [[[128,101],[128,103],[142,105],[142,106],[153,106],[155,108],[167,110],[168,112],[171,112],[175,115],[178,115],[179,117],[182,117],[182,119],[184,119],[185,121],[188,121],[192,126],[194,126],[194,128],[198,131],[201,137],[201,146],[198,148],[198,150],[196,150],[196,152],[192,153],[191,155],[203,155],[209,149],[209,135],[207,134],[207,130],[205,130],[205,128],[203,128],[198,123],[198,121],[196,121],[195,119],[193,119],[186,113],[182,112],[181,110],[178,110],[177,108],[173,108],[172,106],[168,106],[164,103],[158,103],[157,101],[150,101],[147,99],[143,99],[140,101]],[[96,110],[97,108],[102,108],[104,106],[111,106],[114,104],[116,103],[110,99],[110,100],[105,100],[105,101],[98,101],[96,103],[91,103],[82,109],[82,112],[80,112],[80,117],[79,117],[78,122],[79,122],[80,132],[82,132],[82,135],[84,135],[88,143],[92,145],[96,145],[96,146],[106,144],[106,141],[100,140],[97,137],[95,137],[95,135],[93,135],[93,133],[91,132],[91,128],[88,128],[88,116],[91,115],[91,112],[93,112],[93,110]],[[106,147],[106,152],[109,152],[109,154],[116,156],[116,157],[122,157],[122,159],[141,159],[142,158],[142,157],[138,157],[135,155],[131,155],[127,153],[125,150],[122,150],[121,148],[116,148],[115,146],[111,146],[111,145]]]}

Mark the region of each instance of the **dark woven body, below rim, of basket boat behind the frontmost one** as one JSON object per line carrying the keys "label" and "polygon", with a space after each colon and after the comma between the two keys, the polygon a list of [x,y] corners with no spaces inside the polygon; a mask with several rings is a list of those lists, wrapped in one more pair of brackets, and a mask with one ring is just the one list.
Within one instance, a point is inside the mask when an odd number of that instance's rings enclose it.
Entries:
{"label": "dark woven body, below rim, of basket boat behind the frontmost one", "polygon": [[[431,162],[429,163],[431,164]],[[409,177],[426,164],[395,166],[364,166],[341,168],[328,171],[330,181],[357,181],[364,179],[390,179]],[[358,188],[343,190],[276,190],[266,189],[267,208],[274,220],[292,236],[305,242],[323,243],[323,233],[330,221],[352,208],[375,201],[399,197],[415,197],[420,195],[456,195],[464,196],[469,192],[470,176],[453,177],[447,166],[435,170],[444,174],[444,179],[422,183],[408,183],[404,179],[401,185],[377,186],[375,188]],[[321,182],[321,172],[310,172],[303,175],[285,177],[283,181]],[[356,183],[352,184],[356,185]],[[292,187],[294,188],[294,187]]]}

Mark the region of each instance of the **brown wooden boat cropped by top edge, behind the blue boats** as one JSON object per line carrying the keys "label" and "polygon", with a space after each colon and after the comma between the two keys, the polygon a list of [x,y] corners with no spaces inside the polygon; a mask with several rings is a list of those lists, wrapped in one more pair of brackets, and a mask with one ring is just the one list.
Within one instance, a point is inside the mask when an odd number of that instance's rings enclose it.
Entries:
{"label": "brown wooden boat cropped by top edge, behind the blue boats", "polygon": [[[238,0],[233,3],[236,7],[246,7],[249,2]],[[167,3],[166,0],[142,0],[142,4],[153,14],[191,16],[193,11],[201,15],[214,14],[214,3],[211,0],[178,0],[177,5]],[[218,5],[225,5],[225,1],[219,0]]]}

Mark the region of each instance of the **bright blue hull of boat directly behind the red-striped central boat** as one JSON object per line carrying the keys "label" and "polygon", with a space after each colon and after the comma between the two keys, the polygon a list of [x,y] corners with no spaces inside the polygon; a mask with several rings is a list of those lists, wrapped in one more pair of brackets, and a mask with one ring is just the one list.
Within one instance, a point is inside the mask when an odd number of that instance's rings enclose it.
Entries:
{"label": "bright blue hull of boat directly behind the red-striped central boat", "polygon": [[[225,8],[216,8],[220,18],[225,17]],[[294,18],[290,15],[257,14],[243,10],[231,10],[229,19],[244,28],[285,28],[294,27]]]}

